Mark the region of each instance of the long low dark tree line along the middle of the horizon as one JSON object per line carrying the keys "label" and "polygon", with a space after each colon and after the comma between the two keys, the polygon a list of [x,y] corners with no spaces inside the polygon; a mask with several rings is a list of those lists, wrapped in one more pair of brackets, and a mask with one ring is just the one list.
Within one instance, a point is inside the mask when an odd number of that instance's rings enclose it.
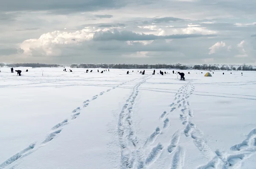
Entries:
{"label": "long low dark tree line along the middle of the horizon", "polygon": [[112,68],[112,69],[191,69],[192,67],[181,65],[156,64],[156,65],[138,65],[138,64],[72,64],[71,68]]}

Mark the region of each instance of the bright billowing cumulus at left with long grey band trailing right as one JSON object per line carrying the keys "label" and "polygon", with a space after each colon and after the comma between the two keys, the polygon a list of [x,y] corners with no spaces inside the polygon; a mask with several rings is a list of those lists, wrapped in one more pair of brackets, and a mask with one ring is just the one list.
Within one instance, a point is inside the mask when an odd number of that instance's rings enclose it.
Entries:
{"label": "bright billowing cumulus at left with long grey band trailing right", "polygon": [[[154,34],[139,34],[132,31],[118,31],[117,29],[84,28],[80,31],[66,32],[53,31],[42,34],[38,39],[27,39],[20,44],[24,54],[41,54],[46,56],[58,56],[61,54],[60,45],[79,45],[86,41],[150,41],[164,39],[184,39],[197,37],[212,37],[215,35],[202,34],[173,34],[157,36]],[[136,42],[135,42],[136,43]],[[134,44],[135,44],[134,43]],[[104,47],[105,48],[105,47]],[[103,48],[102,48],[103,49]],[[108,48],[111,49],[111,48]],[[140,49],[137,49],[140,50]],[[165,49],[162,49],[165,50]],[[38,53],[39,52],[39,53]]]}

